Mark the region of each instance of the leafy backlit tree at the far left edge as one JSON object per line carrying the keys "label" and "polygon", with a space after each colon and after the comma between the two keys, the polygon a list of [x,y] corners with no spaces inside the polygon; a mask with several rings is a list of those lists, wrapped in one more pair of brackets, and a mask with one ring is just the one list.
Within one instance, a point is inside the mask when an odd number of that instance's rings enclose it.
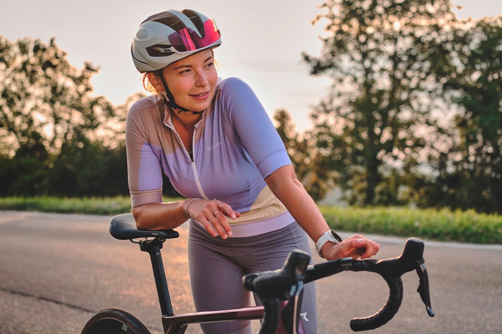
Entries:
{"label": "leafy backlit tree at the far left edge", "polygon": [[[104,97],[90,95],[95,73],[90,63],[72,66],[54,39],[47,45],[0,36],[0,154],[9,158],[15,175],[7,194],[47,194],[49,183],[71,184],[54,170],[58,155],[96,147],[99,126],[114,116]],[[83,161],[73,161],[71,168],[84,167]]]}

